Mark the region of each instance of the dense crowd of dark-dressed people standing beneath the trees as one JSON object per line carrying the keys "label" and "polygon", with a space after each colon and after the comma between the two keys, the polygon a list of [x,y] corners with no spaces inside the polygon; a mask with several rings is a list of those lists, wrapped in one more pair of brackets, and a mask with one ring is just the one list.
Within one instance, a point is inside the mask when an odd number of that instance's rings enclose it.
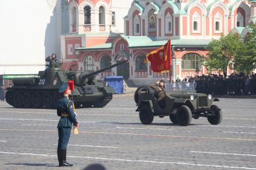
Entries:
{"label": "dense crowd of dark-dressed people standing beneath the trees", "polygon": [[[181,81],[177,78],[177,81]],[[217,74],[184,78],[181,82],[194,83],[198,93],[212,95],[256,95],[256,74]]]}

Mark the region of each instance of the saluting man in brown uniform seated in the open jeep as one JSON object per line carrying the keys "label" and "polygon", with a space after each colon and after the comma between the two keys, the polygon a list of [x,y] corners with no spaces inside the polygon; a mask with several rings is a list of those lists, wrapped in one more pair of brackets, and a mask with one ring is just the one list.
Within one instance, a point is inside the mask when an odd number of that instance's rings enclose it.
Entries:
{"label": "saluting man in brown uniform seated in the open jeep", "polygon": [[151,87],[156,92],[157,101],[160,107],[165,107],[165,95],[166,95],[165,81],[159,80],[156,83],[151,84]]}

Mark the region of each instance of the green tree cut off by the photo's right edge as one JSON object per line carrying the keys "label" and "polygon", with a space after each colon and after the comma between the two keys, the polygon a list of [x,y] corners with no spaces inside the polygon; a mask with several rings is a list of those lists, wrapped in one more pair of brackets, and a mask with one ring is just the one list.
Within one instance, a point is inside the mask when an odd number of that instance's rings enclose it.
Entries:
{"label": "green tree cut off by the photo's right edge", "polygon": [[239,72],[252,72],[256,68],[256,25],[249,25],[250,34],[246,35],[245,43],[234,59],[234,69]]}

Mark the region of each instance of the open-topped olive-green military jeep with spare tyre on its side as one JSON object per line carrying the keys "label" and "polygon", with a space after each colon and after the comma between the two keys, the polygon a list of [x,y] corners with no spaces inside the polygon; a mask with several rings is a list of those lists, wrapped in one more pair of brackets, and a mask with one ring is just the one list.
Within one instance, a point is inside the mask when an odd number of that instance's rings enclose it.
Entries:
{"label": "open-topped olive-green military jeep with spare tyre on its side", "polygon": [[192,83],[167,83],[165,107],[160,107],[157,95],[151,86],[138,87],[134,96],[139,111],[139,119],[144,125],[150,125],[154,116],[169,116],[172,123],[187,126],[192,118],[207,117],[212,125],[218,125],[222,120],[222,110],[213,105],[212,95],[196,93]]}

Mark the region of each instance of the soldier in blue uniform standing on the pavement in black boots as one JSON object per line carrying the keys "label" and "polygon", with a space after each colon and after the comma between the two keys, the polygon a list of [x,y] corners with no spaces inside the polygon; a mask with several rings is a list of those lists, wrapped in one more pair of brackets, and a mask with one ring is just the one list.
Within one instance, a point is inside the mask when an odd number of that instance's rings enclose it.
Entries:
{"label": "soldier in blue uniform standing on the pavement in black boots", "polygon": [[58,123],[58,161],[59,166],[73,166],[73,164],[67,163],[67,144],[69,142],[70,133],[73,126],[78,127],[78,122],[76,121],[75,106],[73,101],[70,101],[69,95],[71,90],[68,83],[63,83],[59,87],[59,93],[62,93],[62,98],[58,100],[57,114],[61,117]]}

